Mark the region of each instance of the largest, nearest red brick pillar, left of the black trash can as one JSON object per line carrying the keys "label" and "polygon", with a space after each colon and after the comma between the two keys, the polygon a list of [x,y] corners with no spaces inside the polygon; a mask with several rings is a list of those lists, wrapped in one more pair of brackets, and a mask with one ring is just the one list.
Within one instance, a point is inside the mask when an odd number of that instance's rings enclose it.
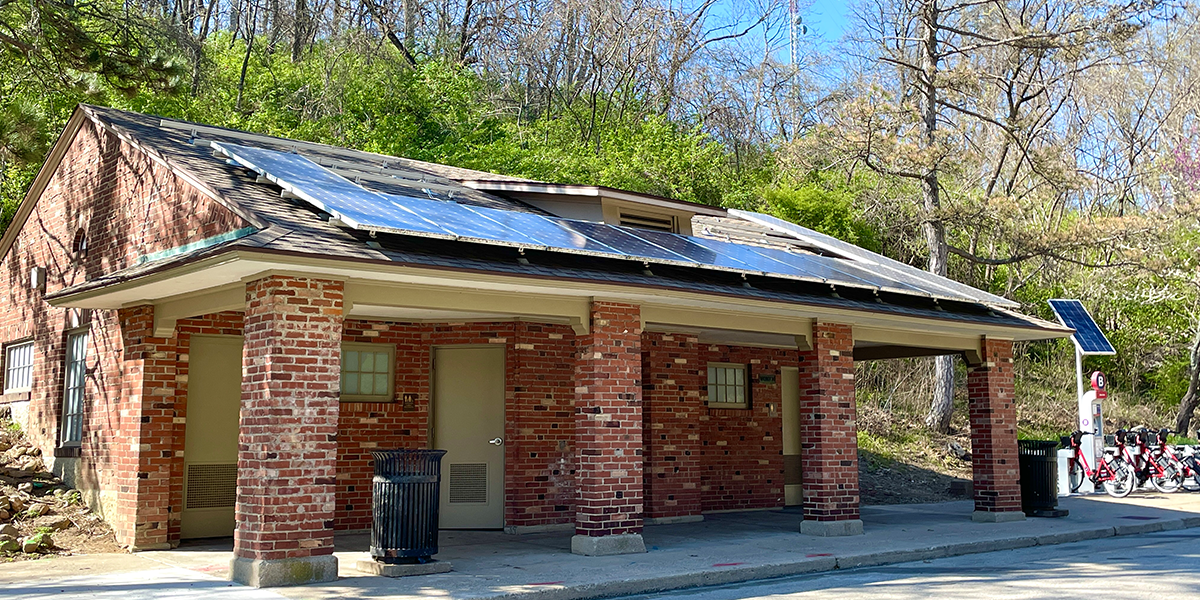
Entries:
{"label": "largest, nearest red brick pillar, left of the black trash can", "polygon": [[334,510],[343,287],[269,276],[246,284],[233,580],[337,578]]}

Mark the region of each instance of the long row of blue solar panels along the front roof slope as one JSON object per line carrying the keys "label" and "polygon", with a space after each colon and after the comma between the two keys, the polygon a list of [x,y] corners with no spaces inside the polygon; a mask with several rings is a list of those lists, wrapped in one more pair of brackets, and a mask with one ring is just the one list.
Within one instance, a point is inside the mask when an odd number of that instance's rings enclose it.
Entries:
{"label": "long row of blue solar panels along the front roof slope", "polygon": [[212,142],[211,145],[230,162],[256,172],[260,178],[278,185],[284,193],[312,204],[355,229],[623,258],[647,264],[695,266],[958,301],[980,301],[920,281],[918,277],[898,277],[893,272],[881,274],[874,264],[674,233],[474,206],[450,200],[382,193],[367,190],[299,154],[224,142]]}

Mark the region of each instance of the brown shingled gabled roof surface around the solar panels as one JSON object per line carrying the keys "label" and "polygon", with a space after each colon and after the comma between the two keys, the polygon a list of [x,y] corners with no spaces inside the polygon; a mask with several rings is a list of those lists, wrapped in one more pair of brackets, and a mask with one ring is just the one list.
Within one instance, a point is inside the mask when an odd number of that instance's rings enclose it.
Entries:
{"label": "brown shingled gabled roof surface around the solar panels", "polygon": [[[652,272],[650,269],[643,269],[641,264],[611,257],[554,256],[553,252],[533,252],[527,253],[524,260],[516,260],[517,254],[511,250],[490,248],[475,242],[418,239],[396,234],[379,234],[377,236],[372,232],[342,227],[336,221],[331,221],[328,214],[322,214],[312,205],[295,198],[288,198],[286,193],[281,196],[280,187],[271,185],[258,174],[230,164],[222,156],[215,156],[212,143],[299,152],[320,167],[354,181],[362,188],[385,194],[428,197],[430,199],[454,200],[458,204],[503,211],[546,215],[536,206],[505,196],[502,188],[538,188],[546,192],[552,191],[556,186],[374,152],[247,134],[112,108],[82,106],[72,118],[74,127],[78,127],[80,119],[94,120],[97,125],[167,164],[214,199],[242,215],[254,226],[254,230],[241,232],[234,239],[214,240],[209,245],[146,257],[146,260],[133,268],[107,274],[56,292],[49,298],[55,301],[62,301],[77,294],[95,293],[109,286],[163,272],[188,262],[202,260],[223,252],[246,251],[311,256],[356,263],[478,270],[534,278],[599,281],[799,304],[823,305],[832,302],[841,307],[868,312],[986,323],[1006,328],[1052,331],[1055,335],[1060,335],[1058,330],[1062,329],[1055,324],[1008,311],[1007,307],[1013,306],[1013,302],[1004,299],[979,301],[978,295],[956,295],[949,284],[960,287],[961,284],[948,281],[947,286],[942,288],[948,292],[938,302],[930,298],[906,295],[894,290],[886,293],[875,290],[871,294],[862,290],[847,290],[839,286],[814,286],[786,280],[773,281],[773,277],[767,276],[748,277],[744,274],[737,276],[726,272],[701,272],[700,269],[680,265],[654,266]],[[67,138],[68,136],[65,134],[64,139]],[[60,149],[56,148],[55,151],[59,152],[58,156],[61,156]],[[52,158],[54,158],[53,152]],[[52,161],[48,161],[47,169],[50,167]],[[493,184],[482,185],[484,181]],[[40,190],[36,190],[35,186],[35,190],[30,192],[30,198],[26,199],[25,204],[36,199],[36,193],[40,193]],[[13,234],[20,227],[20,220],[28,216],[25,205],[22,206],[22,210],[24,214],[18,212],[18,220],[14,221],[7,234]],[[778,228],[764,227],[763,223],[738,218],[736,215],[731,216],[724,209],[708,208],[706,212],[708,216],[698,218],[704,220],[701,221],[701,224],[708,233],[700,233],[701,235],[709,236],[710,234],[713,239],[730,238],[731,230],[740,228],[744,232],[762,233],[764,239],[770,240],[770,244],[791,246],[792,252],[812,252],[857,260],[847,254],[853,252],[835,245],[832,246],[824,236],[816,234],[816,232],[803,228],[781,232]],[[805,234],[805,232],[811,235]],[[10,236],[7,234],[6,242]],[[732,241],[744,244],[750,240]],[[860,248],[851,250],[870,254]],[[509,256],[510,253],[512,256]],[[892,272],[888,269],[894,270],[896,266],[883,264],[882,262],[887,260],[883,257],[878,257],[878,259],[882,265],[878,266],[880,274],[887,277],[887,272]],[[872,266],[871,262],[858,265],[860,269],[864,266],[876,268]],[[901,266],[907,268],[907,265]],[[929,274],[924,275],[934,277]],[[900,283],[898,288],[905,288],[905,286]]]}

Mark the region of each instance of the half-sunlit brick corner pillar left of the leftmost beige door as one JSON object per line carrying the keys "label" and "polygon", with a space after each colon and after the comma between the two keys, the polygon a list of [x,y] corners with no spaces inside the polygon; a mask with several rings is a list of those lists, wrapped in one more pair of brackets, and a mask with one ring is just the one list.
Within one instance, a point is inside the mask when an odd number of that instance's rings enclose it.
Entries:
{"label": "half-sunlit brick corner pillar left of the leftmost beige door", "polygon": [[[132,551],[170,547],[170,468],[175,428],[175,341],[154,337],[154,306],[118,311],[127,439],[118,450],[116,541]],[[95,341],[91,342],[94,352]],[[126,450],[127,449],[127,450]]]}

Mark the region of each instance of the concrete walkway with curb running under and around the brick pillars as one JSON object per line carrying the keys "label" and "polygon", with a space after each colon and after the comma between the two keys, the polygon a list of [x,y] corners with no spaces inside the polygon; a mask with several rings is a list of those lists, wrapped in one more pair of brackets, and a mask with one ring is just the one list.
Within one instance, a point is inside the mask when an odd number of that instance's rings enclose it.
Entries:
{"label": "concrete walkway with curb running under and around the brick pillars", "polygon": [[454,571],[398,580],[356,571],[368,536],[342,535],[338,581],[272,590],[224,581],[228,541],[190,544],[0,565],[0,596],[574,600],[1200,527],[1200,493],[1064,498],[1061,506],[1070,516],[1014,523],[974,523],[970,502],[866,506],[866,533],[853,538],[800,535],[800,515],[791,509],[708,515],[700,523],[647,527],[649,552],[616,557],[571,554],[570,532],[443,532],[437,558]]}

